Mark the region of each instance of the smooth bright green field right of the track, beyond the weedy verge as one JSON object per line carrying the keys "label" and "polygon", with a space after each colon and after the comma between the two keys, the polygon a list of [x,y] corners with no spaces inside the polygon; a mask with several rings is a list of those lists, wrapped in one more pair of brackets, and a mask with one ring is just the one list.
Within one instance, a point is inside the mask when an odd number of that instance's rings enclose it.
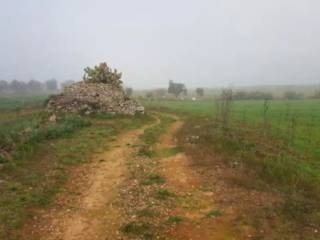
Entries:
{"label": "smooth bright green field right of the track, beyond the weedy verge", "polygon": [[[218,109],[214,100],[157,100],[145,101],[144,104],[150,109],[164,108],[197,117],[215,117]],[[319,100],[271,101],[266,119],[263,101],[235,101],[231,110],[233,122],[247,124],[257,130],[267,127],[269,133],[286,140],[294,149],[320,159]]]}

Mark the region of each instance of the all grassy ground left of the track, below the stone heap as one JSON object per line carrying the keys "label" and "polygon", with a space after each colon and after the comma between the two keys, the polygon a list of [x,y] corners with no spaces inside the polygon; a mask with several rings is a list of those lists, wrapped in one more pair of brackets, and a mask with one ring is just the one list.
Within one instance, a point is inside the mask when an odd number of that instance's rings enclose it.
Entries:
{"label": "all grassy ground left of the track, below the stone heap", "polygon": [[151,120],[147,115],[62,114],[50,122],[45,100],[0,99],[0,239],[21,239],[15,229],[32,216],[30,209],[51,203],[71,166]]}

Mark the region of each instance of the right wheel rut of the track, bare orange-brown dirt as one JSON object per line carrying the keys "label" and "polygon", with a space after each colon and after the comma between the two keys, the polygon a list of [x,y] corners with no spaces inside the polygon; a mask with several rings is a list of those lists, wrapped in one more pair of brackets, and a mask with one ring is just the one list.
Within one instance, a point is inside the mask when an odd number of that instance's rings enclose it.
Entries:
{"label": "right wheel rut of the track, bare orange-brown dirt", "polygon": [[[179,119],[171,125],[160,138],[160,151],[177,148],[174,136],[182,125]],[[216,208],[213,192],[204,187],[202,177],[194,171],[185,153],[160,159],[160,172],[167,180],[165,187],[176,194],[170,215],[178,222],[170,227],[170,236],[181,240],[240,239],[235,238],[229,219],[219,218],[221,213]]]}

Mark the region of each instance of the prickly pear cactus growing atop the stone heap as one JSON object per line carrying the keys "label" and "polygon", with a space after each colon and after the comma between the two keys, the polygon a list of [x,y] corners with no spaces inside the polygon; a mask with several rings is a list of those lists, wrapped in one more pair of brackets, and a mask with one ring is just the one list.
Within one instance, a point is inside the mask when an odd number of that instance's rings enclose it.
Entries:
{"label": "prickly pear cactus growing atop the stone heap", "polygon": [[100,63],[94,68],[87,67],[84,69],[83,80],[89,83],[106,83],[120,87],[122,84],[122,73],[118,73],[117,69],[110,68],[107,63]]}

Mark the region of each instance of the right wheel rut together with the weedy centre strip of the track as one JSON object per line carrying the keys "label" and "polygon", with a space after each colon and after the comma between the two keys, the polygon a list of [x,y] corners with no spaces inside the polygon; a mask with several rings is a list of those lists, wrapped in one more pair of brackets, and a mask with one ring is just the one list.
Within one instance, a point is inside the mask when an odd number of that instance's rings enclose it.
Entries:
{"label": "right wheel rut together with the weedy centre strip of the track", "polygon": [[161,123],[145,132],[138,156],[129,161],[131,181],[122,189],[125,239],[225,240],[247,239],[215,204],[203,177],[176,140],[184,122],[160,115]]}

